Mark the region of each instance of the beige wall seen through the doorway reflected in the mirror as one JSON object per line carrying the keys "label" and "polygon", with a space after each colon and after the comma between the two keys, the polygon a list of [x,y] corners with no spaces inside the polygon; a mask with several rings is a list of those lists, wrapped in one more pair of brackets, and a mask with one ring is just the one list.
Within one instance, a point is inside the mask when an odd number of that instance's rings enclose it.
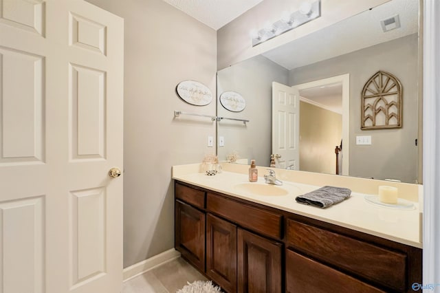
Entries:
{"label": "beige wall seen through the doorway reflected in the mirror", "polygon": [[300,102],[300,171],[335,174],[342,115]]}

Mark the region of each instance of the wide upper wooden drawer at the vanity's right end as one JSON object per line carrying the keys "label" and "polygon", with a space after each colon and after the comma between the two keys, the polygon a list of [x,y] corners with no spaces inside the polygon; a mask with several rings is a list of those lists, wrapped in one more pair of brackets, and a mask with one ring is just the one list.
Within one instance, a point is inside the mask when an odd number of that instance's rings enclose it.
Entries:
{"label": "wide upper wooden drawer at the vanity's right end", "polygon": [[406,290],[406,254],[290,219],[287,220],[287,242],[338,268],[393,290]]}

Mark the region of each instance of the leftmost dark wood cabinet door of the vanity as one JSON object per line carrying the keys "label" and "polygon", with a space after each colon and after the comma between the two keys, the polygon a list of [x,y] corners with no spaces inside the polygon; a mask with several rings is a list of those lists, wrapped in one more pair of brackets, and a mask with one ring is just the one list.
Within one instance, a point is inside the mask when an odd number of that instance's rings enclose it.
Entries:
{"label": "leftmost dark wood cabinet door of the vanity", "polygon": [[182,257],[205,271],[205,213],[176,201],[175,248]]}

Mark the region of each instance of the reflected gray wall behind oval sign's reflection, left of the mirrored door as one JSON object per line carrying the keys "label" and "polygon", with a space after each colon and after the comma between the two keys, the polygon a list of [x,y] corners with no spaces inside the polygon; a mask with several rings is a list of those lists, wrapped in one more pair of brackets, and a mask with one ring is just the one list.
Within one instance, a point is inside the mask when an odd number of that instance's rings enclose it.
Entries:
{"label": "reflected gray wall behind oval sign's reflection, left of the mirrored door", "polygon": [[289,71],[263,56],[256,56],[218,72],[217,93],[236,91],[246,101],[241,112],[231,112],[217,105],[219,116],[250,120],[241,122],[222,120],[218,135],[225,138],[219,146],[220,160],[236,151],[241,159],[255,159],[260,166],[269,166],[272,153],[272,81],[287,84]]}

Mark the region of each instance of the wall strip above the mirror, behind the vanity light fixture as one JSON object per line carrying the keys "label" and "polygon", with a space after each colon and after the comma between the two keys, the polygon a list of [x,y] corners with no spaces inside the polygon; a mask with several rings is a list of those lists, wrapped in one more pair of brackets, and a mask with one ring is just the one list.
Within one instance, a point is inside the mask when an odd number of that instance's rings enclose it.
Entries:
{"label": "wall strip above the mirror, behind the vanity light fixture", "polygon": [[389,0],[321,0],[321,17],[301,25],[295,30],[281,34],[260,45],[252,47],[250,31],[263,28],[266,21],[281,19],[283,11],[296,11],[301,1],[263,0],[254,8],[223,26],[217,31],[217,66],[223,69],[252,56],[289,43],[295,39],[347,19]]}

